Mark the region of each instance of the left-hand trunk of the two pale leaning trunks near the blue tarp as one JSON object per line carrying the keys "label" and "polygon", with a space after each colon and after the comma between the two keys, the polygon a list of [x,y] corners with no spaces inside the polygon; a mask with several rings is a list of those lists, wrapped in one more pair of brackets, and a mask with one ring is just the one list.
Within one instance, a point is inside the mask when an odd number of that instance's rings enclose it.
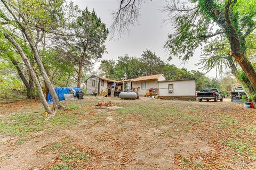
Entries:
{"label": "left-hand trunk of the two pale leaning trunks near the blue tarp", "polygon": [[49,105],[47,104],[47,101],[44,98],[44,93],[43,93],[42,87],[40,86],[39,81],[36,78],[36,73],[35,73],[33,67],[31,66],[28,57],[23,52],[21,46],[6,31],[4,31],[4,36],[17,49],[18,53],[20,54],[23,62],[25,63],[25,65],[26,65],[26,67],[27,67],[27,69],[28,69],[28,71],[29,71],[29,73],[31,75],[31,78],[33,79],[33,81],[34,81],[34,83],[36,85],[36,89],[38,91],[39,98],[42,101],[42,104],[43,104],[43,106],[45,108],[45,111],[48,112],[48,113],[51,113],[51,108],[49,107]]}

